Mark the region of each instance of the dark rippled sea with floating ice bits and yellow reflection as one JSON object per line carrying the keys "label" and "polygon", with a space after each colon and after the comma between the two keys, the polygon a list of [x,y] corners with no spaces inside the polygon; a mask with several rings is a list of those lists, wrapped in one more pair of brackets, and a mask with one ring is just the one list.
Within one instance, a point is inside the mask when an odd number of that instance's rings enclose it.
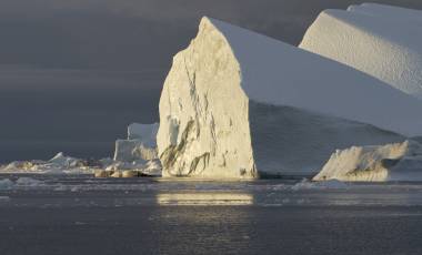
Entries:
{"label": "dark rippled sea with floating ice bits and yellow reflection", "polygon": [[422,183],[1,178],[2,255],[422,254]]}

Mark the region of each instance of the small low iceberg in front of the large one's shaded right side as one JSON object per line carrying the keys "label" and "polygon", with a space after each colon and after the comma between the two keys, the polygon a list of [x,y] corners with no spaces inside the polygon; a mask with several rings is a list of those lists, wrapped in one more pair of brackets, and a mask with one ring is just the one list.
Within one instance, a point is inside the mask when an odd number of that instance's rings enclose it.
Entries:
{"label": "small low iceberg in front of the large one's shaded right side", "polygon": [[422,181],[422,145],[415,141],[336,151],[314,181]]}

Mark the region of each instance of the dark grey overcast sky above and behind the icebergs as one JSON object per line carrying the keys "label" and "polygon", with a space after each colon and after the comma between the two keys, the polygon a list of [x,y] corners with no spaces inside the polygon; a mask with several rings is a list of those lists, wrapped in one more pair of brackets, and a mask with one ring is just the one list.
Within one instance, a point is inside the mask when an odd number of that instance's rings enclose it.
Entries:
{"label": "dark grey overcast sky above and behind the icebergs", "polygon": [[172,57],[203,16],[297,45],[322,10],[362,2],[1,0],[0,163],[112,156],[128,124],[158,122]]}

